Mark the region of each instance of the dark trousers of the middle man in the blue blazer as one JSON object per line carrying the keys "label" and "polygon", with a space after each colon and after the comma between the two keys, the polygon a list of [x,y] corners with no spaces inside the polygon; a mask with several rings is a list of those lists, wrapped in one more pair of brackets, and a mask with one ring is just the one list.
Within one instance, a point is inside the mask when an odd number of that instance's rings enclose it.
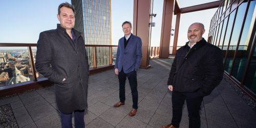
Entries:
{"label": "dark trousers of the middle man in the blue blazer", "polygon": [[138,109],[138,90],[137,90],[137,72],[134,70],[130,73],[124,73],[123,69],[118,73],[119,79],[119,98],[120,102],[124,103],[125,101],[125,80],[126,77],[129,80],[130,87],[132,90],[133,97],[133,109]]}

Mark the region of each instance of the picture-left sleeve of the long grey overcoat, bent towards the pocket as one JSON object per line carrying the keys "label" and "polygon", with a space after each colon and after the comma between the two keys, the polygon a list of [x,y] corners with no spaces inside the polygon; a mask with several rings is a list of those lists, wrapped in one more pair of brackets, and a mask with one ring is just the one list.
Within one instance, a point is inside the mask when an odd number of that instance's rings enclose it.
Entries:
{"label": "picture-left sleeve of the long grey overcoat, bent towards the pocket", "polygon": [[45,32],[41,32],[37,41],[35,68],[50,81],[61,83],[65,76],[57,73],[51,67],[52,55],[50,40]]}

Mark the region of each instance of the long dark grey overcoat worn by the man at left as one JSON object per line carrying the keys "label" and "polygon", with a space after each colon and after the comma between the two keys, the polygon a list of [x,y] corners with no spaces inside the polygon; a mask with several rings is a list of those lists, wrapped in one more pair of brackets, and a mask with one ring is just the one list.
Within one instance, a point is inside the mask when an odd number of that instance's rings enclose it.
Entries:
{"label": "long dark grey overcoat worn by the man at left", "polygon": [[[36,70],[55,84],[56,103],[61,113],[87,108],[89,63],[81,33],[73,29],[76,43],[66,29],[41,32],[37,42]],[[62,81],[66,78],[65,81]]]}

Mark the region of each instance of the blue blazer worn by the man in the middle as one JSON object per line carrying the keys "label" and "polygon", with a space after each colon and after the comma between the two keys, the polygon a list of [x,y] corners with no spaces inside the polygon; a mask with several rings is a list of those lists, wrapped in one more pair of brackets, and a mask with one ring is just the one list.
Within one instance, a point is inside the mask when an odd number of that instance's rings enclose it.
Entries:
{"label": "blue blazer worn by the man in the middle", "polygon": [[118,41],[115,68],[124,73],[130,73],[140,67],[142,57],[142,42],[140,37],[131,34],[130,40],[124,49],[124,38]]}

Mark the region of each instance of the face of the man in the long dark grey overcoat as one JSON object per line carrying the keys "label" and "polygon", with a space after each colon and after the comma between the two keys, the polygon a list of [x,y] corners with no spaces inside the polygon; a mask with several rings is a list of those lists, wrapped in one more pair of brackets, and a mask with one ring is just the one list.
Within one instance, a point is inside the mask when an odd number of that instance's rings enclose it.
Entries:
{"label": "face of the man in the long dark grey overcoat", "polygon": [[60,14],[57,15],[60,26],[65,29],[72,29],[75,25],[75,16],[71,8],[65,6],[60,8]]}

